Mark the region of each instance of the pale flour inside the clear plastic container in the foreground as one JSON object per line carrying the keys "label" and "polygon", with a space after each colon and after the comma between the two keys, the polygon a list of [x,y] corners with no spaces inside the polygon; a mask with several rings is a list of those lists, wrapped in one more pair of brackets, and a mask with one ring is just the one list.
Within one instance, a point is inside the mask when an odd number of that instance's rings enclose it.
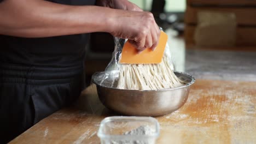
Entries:
{"label": "pale flour inside the clear plastic container in the foreground", "polygon": [[[126,131],[124,135],[152,135],[155,131],[150,128],[148,125],[142,125],[137,129],[133,129],[131,131]],[[110,144],[154,144],[154,140],[146,139],[146,140],[120,140],[120,141],[111,141]]]}

